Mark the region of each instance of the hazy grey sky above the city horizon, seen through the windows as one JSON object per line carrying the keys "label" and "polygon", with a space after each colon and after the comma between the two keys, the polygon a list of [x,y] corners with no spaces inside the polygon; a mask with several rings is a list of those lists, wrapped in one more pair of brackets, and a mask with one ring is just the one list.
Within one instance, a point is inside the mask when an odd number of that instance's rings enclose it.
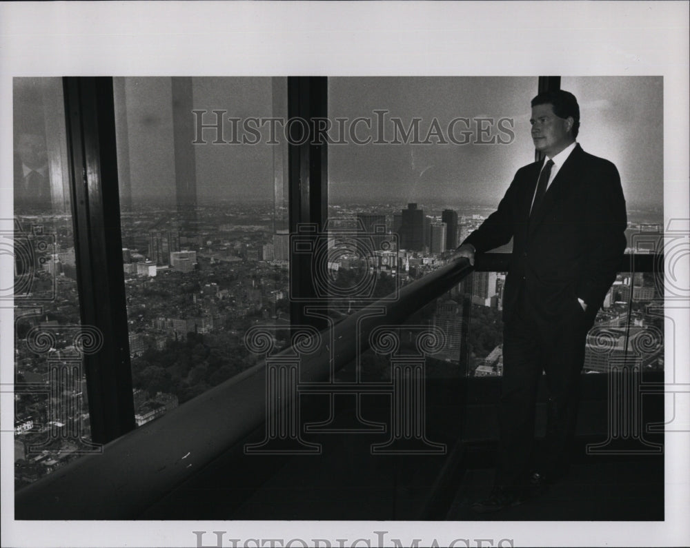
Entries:
{"label": "hazy grey sky above the city horizon, seen through the windows", "polygon": [[[204,123],[215,120],[213,110],[243,121],[283,114],[286,101],[283,112],[273,112],[272,85],[266,77],[193,78],[193,107],[208,112]],[[376,110],[387,111],[383,134],[387,141],[394,138],[393,117],[403,128],[420,119],[420,140],[434,120],[446,140],[453,119],[470,119],[472,132],[463,137],[460,132],[467,128],[460,121],[454,136],[470,143],[442,144],[432,138],[431,144],[330,145],[329,200],[497,204],[517,168],[533,161],[529,101],[537,85],[537,77],[330,78],[328,116],[334,125],[337,118],[348,123],[358,116],[371,119],[371,131],[361,123],[357,126],[360,138],[377,136]],[[628,203],[662,205],[662,78],[563,77],[561,87],[578,97],[582,148],[618,166]],[[128,148],[132,202],[174,202],[170,78],[127,77],[121,89],[124,94],[116,87],[115,97],[118,146]],[[21,88],[17,95],[15,101],[21,101]],[[493,122],[477,122],[482,118]],[[504,119],[502,130],[497,127],[500,119]],[[480,136],[477,123],[489,133]],[[225,128],[229,140],[228,122]],[[336,131],[331,135],[337,138]],[[492,137],[504,143],[477,143]],[[272,199],[275,145],[266,143],[268,126],[264,125],[256,145],[213,144],[208,130],[204,139],[206,144],[193,145],[199,203]]]}

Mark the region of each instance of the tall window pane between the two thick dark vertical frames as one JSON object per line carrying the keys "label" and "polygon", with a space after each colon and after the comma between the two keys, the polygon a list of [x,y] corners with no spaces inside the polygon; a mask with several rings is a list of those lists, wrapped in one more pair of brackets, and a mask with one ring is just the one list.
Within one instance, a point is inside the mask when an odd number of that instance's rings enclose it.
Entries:
{"label": "tall window pane between the two thick dark vertical frames", "polygon": [[285,79],[115,79],[137,425],[254,365],[251,325],[289,325],[286,156],[231,120],[286,103]]}

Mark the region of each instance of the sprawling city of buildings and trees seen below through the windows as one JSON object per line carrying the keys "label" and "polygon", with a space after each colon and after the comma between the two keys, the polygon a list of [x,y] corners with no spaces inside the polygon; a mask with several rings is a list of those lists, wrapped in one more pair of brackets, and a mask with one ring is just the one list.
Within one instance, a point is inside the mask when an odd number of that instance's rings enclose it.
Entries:
{"label": "sprawling city of buildings and trees seen below through the windows", "polygon": [[[365,233],[373,233],[374,243],[390,242],[390,245],[375,245],[369,250],[371,256],[356,256],[347,251],[334,254],[333,263],[328,263],[327,268],[334,290],[344,290],[347,295],[348,288],[359,287],[358,281],[364,273],[376,280],[372,287],[377,291],[377,298],[388,296],[398,284],[404,286],[446,265],[450,256],[444,245],[448,223],[442,219],[450,220],[452,225],[457,218],[457,241],[462,241],[484,220],[476,206],[470,210],[432,212],[422,204],[414,205],[331,208],[339,210],[344,219],[358,221]],[[175,204],[156,204],[155,210],[133,207],[123,212],[122,266],[137,427],[161,418],[178,405],[254,365],[257,357],[243,343],[243,336],[252,325],[290,325],[290,234],[288,230],[273,228],[273,209],[273,202],[268,200],[252,207],[242,207],[239,203],[198,206],[194,223],[184,230],[180,229],[188,217],[183,212],[182,218],[177,219],[179,209]],[[415,212],[407,230],[409,234],[405,236],[406,230],[401,228],[401,238],[391,238],[396,218],[402,218],[406,210]],[[48,382],[46,357],[32,354],[30,346],[24,343],[32,329],[52,329],[58,342],[47,356],[48,363],[63,367],[63,356],[75,352],[64,333],[79,325],[76,254],[68,216],[48,214],[43,219],[34,215],[22,221],[27,229],[39,223],[47,230],[46,234],[56,236],[56,253],[50,260],[41,261],[35,293],[26,296],[29,301],[32,298],[40,301],[50,291],[48,282],[55,279],[56,298],[52,305],[41,308],[41,314],[17,317],[17,381],[20,386],[28,382],[41,385]],[[629,230],[636,228],[631,224]],[[396,242],[404,243],[405,238],[412,238],[410,241],[416,249],[396,245]],[[346,241],[339,241],[337,229],[328,239],[334,249],[346,246]],[[475,272],[435,304],[417,313],[417,323],[440,329],[446,341],[437,355],[427,358],[429,378],[502,374],[500,326],[504,279],[504,272]],[[631,367],[641,363],[649,370],[663,369],[663,343],[641,358],[635,354],[637,341],[650,332],[658,332],[658,317],[648,312],[649,306],[660,298],[658,287],[653,277],[618,274],[598,315],[598,325],[610,334],[615,347],[610,359],[602,356],[600,342],[592,334],[587,344],[586,372],[607,373],[613,365],[621,363]],[[471,306],[469,313],[463,312],[466,299]],[[332,298],[329,315],[337,323],[357,310],[353,302],[357,302],[356,296]],[[465,324],[466,321],[469,323]],[[405,329],[404,324],[400,329]],[[285,338],[288,331],[282,331],[275,327],[277,348],[289,344]],[[386,378],[388,369],[381,367],[377,360],[371,354],[362,357],[368,380],[381,380],[382,375]],[[55,398],[41,400],[29,393],[22,394],[17,401],[14,425],[17,488],[83,454],[79,444],[88,443],[88,435],[76,441],[50,438],[50,447],[39,453],[30,451],[33,443],[46,436],[46,424],[49,428],[79,424],[88,432],[90,416],[83,374],[68,380],[74,387],[70,388],[73,394],[70,397],[75,401],[72,414],[60,415],[62,408]],[[81,402],[79,398],[83,398]]]}

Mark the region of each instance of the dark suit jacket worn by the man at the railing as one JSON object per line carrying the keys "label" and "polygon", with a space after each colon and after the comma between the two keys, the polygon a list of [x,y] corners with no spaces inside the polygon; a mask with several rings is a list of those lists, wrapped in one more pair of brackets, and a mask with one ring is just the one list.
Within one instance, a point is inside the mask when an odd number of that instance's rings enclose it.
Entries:
{"label": "dark suit jacket worn by the man at the railing", "polygon": [[463,243],[482,253],[513,238],[504,321],[515,311],[520,290],[545,321],[573,313],[578,298],[593,321],[626,246],[618,170],[576,145],[530,219],[541,168],[542,162],[520,168],[497,210]]}

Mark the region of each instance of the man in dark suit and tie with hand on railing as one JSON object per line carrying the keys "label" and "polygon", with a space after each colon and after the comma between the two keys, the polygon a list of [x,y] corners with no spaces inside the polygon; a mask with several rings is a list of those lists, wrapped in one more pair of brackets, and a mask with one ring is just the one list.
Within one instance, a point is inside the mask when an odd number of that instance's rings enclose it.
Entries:
{"label": "man in dark suit and tie with hand on railing", "polygon": [[[620,176],[613,163],[575,141],[580,108],[573,94],[531,101],[532,138],[544,159],[520,168],[497,210],[457,248],[455,258],[513,238],[504,286],[504,372],[494,488],[473,505],[496,511],[566,473],[575,432],[586,334],[625,250]],[[538,379],[549,394],[546,448],[532,460]]]}

